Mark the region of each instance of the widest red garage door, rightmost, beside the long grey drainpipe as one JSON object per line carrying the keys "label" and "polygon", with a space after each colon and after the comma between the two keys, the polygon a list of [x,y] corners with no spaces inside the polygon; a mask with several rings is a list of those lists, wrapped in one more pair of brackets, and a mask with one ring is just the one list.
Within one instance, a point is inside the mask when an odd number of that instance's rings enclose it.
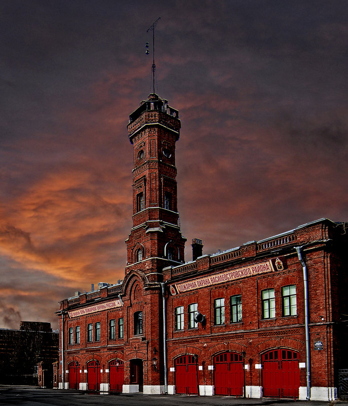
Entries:
{"label": "widest red garage door, rightmost, beside the long grey drainpipe", "polygon": [[300,370],[298,353],[272,350],[262,356],[262,386],[264,396],[298,397]]}

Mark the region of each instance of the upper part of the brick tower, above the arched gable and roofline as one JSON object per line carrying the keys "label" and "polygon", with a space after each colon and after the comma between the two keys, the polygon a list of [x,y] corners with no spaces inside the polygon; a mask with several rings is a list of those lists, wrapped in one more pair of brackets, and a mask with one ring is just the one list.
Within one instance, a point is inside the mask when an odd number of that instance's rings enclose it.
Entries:
{"label": "upper part of the brick tower, above the arched gable and roofline", "polygon": [[133,227],[127,239],[127,267],[142,269],[151,281],[169,265],[184,262],[184,245],[177,208],[175,143],[179,112],[167,100],[150,94],[130,116],[133,144]]}

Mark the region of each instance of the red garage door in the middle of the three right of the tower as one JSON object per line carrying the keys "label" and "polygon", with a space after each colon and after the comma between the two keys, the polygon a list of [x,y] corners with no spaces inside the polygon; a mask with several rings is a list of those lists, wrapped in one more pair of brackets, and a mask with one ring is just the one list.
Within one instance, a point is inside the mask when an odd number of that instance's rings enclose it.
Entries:
{"label": "red garage door in the middle of the three right of the tower", "polygon": [[243,395],[243,359],[240,354],[224,352],[214,357],[215,394]]}

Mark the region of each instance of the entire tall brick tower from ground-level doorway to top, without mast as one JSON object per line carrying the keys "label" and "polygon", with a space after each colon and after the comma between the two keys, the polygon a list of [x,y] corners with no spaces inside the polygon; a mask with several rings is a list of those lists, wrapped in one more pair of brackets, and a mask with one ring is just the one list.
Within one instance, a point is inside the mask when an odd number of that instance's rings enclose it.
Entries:
{"label": "entire tall brick tower from ground-level doorway to top, without mast", "polygon": [[177,208],[175,143],[179,112],[150,94],[130,116],[133,144],[133,227],[126,240],[124,392],[167,390],[164,357],[162,270],[184,263],[186,239]]}

